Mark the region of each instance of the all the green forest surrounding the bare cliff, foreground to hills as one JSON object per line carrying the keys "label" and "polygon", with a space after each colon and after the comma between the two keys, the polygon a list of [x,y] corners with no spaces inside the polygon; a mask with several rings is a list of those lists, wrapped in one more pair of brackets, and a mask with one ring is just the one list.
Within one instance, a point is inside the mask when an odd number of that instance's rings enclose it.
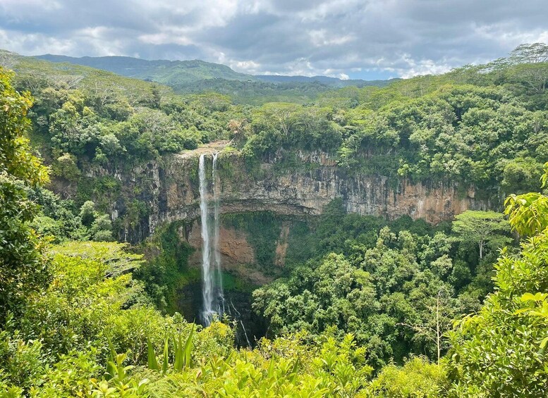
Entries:
{"label": "all the green forest surrounding the bare cliff, foreground to hills", "polygon": [[[245,104],[0,58],[0,397],[545,396],[544,44],[385,87],[295,85],[291,102],[249,90]],[[195,278],[181,225],[116,242],[147,206],[109,175],[219,140],[255,178],[262,161],[291,173],[313,167],[298,151],[325,152],[346,173],[476,187],[493,211],[430,225],[331,201],[291,230],[283,270],[252,292],[266,335],[238,347],[235,318],[173,311]],[[281,218],[224,223],[272,263]]]}

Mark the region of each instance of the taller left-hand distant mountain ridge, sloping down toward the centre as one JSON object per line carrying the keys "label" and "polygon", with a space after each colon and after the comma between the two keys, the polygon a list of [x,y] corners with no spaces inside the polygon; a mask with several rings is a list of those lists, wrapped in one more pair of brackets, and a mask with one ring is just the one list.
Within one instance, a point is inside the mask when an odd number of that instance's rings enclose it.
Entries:
{"label": "taller left-hand distant mountain ridge, sloping down toward the centre", "polygon": [[147,61],[129,56],[99,56],[74,58],[45,54],[36,56],[50,62],[68,62],[76,65],[90,66],[96,69],[108,70],[127,77],[159,82],[164,85],[176,86],[207,79],[224,80],[256,80],[252,75],[238,73],[226,65],[200,60],[193,61]]}

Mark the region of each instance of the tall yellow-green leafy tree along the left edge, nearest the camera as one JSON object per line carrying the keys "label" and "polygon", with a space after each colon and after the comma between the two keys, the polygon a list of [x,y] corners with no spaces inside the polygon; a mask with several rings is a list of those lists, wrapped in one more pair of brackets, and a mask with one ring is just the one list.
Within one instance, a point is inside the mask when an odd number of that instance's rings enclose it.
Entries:
{"label": "tall yellow-green leafy tree along the left edge, nearest the camera", "polygon": [[29,187],[47,182],[47,168],[25,137],[32,99],[13,89],[12,77],[0,68],[0,326],[47,277],[42,244],[29,225],[37,206],[27,197]]}

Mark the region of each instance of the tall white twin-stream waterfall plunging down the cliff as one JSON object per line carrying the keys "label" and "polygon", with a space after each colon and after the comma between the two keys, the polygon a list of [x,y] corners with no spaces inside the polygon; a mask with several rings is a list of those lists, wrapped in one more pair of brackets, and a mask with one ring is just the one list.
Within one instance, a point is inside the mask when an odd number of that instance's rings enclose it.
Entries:
{"label": "tall white twin-stream waterfall plunging down the cliff", "polygon": [[[202,218],[202,323],[209,325],[213,316],[224,313],[224,292],[219,251],[219,188],[217,187],[217,153],[212,165],[213,215],[209,216],[209,197],[205,174],[205,155],[200,155],[200,216]],[[210,222],[213,221],[212,225]],[[210,233],[212,232],[212,233]]]}

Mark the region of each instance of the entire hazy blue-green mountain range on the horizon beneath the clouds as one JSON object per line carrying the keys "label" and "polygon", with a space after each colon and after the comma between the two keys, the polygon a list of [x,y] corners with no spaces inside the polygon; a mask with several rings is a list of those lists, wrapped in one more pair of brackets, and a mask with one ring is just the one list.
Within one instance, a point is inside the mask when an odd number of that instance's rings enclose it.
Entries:
{"label": "entire hazy blue-green mountain range on the horizon beneath the clouds", "polygon": [[272,101],[303,104],[330,89],[355,86],[384,87],[389,80],[341,80],[326,76],[246,75],[228,66],[200,60],[147,61],[106,56],[73,58],[46,54],[36,58],[56,63],[90,66],[118,75],[167,85],[179,94],[217,92],[229,95],[236,104],[261,105]]}

